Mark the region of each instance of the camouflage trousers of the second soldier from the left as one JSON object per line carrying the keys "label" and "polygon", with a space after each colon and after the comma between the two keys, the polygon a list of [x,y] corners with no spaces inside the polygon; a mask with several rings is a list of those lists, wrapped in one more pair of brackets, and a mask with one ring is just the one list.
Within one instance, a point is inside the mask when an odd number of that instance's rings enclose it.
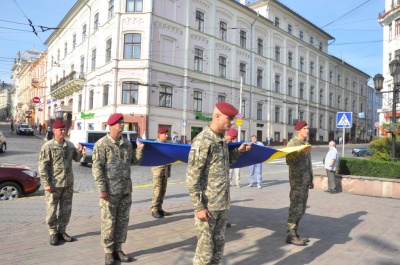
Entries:
{"label": "camouflage trousers of the second soldier from the left", "polygon": [[132,194],[111,195],[108,201],[100,199],[101,245],[105,253],[122,251],[129,224]]}

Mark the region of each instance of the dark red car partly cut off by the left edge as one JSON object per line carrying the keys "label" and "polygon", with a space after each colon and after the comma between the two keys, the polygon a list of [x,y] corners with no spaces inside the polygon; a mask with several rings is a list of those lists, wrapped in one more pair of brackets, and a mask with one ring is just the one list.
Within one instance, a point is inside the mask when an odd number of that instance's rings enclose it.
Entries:
{"label": "dark red car partly cut off by the left edge", "polygon": [[37,172],[20,164],[0,163],[0,201],[17,199],[40,188]]}

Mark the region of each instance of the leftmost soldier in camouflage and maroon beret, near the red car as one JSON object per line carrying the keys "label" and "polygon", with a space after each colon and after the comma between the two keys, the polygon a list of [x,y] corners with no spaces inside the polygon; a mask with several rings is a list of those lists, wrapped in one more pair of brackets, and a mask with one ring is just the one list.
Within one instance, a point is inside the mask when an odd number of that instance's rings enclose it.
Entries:
{"label": "leftmost soldier in camouflage and maroon beret, near the red car", "polygon": [[[58,240],[74,241],[65,229],[72,211],[74,174],[72,160],[79,162],[82,158],[82,145],[78,149],[66,141],[65,123],[56,121],[53,124],[54,138],[46,142],[39,155],[39,175],[43,182],[46,198],[46,223],[50,233],[50,244],[58,245]],[[58,216],[57,216],[57,207]]]}

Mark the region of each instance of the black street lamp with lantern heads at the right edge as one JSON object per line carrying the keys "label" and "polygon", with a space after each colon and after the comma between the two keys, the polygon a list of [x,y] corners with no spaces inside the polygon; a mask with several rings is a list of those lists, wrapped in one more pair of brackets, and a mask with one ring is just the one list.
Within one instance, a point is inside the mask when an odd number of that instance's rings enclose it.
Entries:
{"label": "black street lamp with lantern heads at the right edge", "polygon": [[391,161],[396,162],[396,104],[397,104],[397,93],[399,92],[400,86],[400,61],[397,59],[393,60],[389,64],[390,75],[393,77],[393,90],[381,92],[383,88],[384,77],[381,74],[374,76],[374,86],[378,93],[393,93],[392,97],[392,123],[389,126],[392,133],[392,156]]}

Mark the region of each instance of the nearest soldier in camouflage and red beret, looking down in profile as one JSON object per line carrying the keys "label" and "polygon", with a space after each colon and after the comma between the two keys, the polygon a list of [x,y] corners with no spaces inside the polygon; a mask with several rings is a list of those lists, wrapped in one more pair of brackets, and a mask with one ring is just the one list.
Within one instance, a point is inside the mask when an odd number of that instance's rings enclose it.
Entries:
{"label": "nearest soldier in camouflage and red beret, looking down in profile", "polygon": [[239,153],[250,150],[244,143],[228,150],[224,132],[233,124],[238,110],[231,104],[215,105],[212,121],[192,142],[186,183],[195,211],[197,247],[193,264],[219,264],[224,252],[229,196],[229,165]]}

